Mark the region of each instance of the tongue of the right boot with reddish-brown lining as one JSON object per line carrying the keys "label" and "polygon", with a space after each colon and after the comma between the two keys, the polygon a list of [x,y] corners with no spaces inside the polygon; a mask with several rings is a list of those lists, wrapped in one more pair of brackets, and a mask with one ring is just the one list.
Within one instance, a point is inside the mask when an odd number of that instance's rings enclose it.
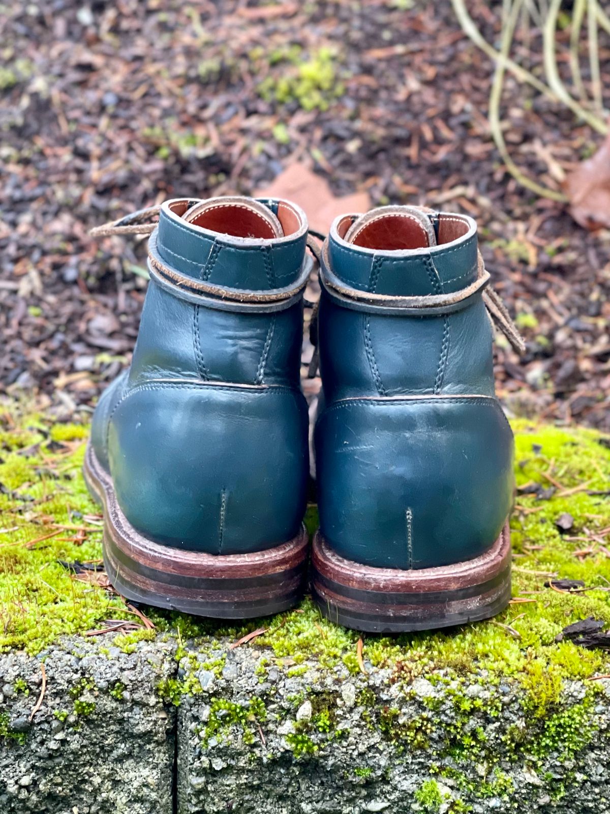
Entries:
{"label": "tongue of the right boot with reddish-brown lining", "polygon": [[434,226],[425,211],[412,206],[385,206],[361,215],[343,238],[346,243],[379,252],[436,246]]}

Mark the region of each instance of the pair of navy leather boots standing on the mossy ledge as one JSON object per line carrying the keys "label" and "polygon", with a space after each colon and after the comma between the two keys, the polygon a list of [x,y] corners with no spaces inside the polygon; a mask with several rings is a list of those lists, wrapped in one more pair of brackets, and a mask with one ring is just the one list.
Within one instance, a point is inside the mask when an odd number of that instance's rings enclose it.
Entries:
{"label": "pair of navy leather boots standing on the mossy ledge", "polygon": [[[220,618],[293,606],[310,561],[305,214],[170,200],[94,232],[150,233],[133,362],[99,401],[85,461],[112,583]],[[513,440],[490,314],[519,339],[488,279],[463,215],[379,208],[325,240],[311,586],[339,624],[437,628],[508,603]]]}

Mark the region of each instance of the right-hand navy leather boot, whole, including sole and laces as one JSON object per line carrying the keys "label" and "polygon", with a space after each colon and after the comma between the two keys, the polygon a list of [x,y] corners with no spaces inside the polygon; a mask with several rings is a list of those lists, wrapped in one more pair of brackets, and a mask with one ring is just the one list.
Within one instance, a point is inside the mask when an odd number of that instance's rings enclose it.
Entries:
{"label": "right-hand navy leather boot, whole, including sole and laces", "polygon": [[320,278],[320,610],[381,632],[494,615],[511,591],[513,439],[489,314],[522,340],[476,224],[412,207],[338,217]]}

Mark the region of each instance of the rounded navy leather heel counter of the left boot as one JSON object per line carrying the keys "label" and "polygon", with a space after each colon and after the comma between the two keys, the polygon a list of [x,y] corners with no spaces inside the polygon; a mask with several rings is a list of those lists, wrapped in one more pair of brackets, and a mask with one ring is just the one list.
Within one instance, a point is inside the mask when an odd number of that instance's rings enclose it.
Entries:
{"label": "rounded navy leather heel counter of the left boot", "polygon": [[298,533],[308,471],[298,391],[142,385],[111,415],[108,449],[120,507],[151,540],[240,554]]}

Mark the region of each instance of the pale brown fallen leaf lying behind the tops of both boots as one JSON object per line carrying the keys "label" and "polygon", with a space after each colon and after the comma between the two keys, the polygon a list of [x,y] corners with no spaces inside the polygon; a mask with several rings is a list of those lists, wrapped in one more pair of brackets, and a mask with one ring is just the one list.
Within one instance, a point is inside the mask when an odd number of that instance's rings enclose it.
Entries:
{"label": "pale brown fallen leaf lying behind the tops of both boots", "polygon": [[256,190],[257,198],[287,198],[302,207],[313,230],[326,234],[338,215],[367,212],[371,208],[368,192],[355,192],[337,198],[321,175],[304,164],[290,164],[275,180]]}

